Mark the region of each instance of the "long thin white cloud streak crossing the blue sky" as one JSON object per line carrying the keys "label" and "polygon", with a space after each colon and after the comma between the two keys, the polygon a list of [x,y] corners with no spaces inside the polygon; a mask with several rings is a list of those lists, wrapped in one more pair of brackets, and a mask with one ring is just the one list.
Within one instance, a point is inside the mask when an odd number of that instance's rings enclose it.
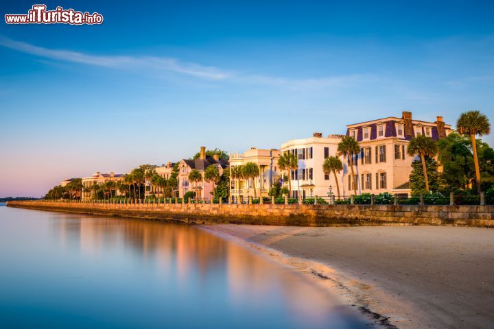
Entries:
{"label": "long thin white cloud streak crossing the blue sky", "polygon": [[242,75],[218,69],[213,66],[204,66],[196,63],[186,63],[176,58],[156,56],[97,56],[68,51],[62,49],[47,49],[26,42],[11,40],[0,36],[0,45],[23,53],[29,53],[41,58],[74,62],[93,66],[102,66],[109,69],[148,69],[153,73],[172,71],[206,80],[227,80],[246,84],[266,85],[292,90],[308,88],[342,88],[355,83],[369,82],[374,78],[369,75],[341,75],[308,79],[292,79],[285,77],[271,77],[268,75]]}

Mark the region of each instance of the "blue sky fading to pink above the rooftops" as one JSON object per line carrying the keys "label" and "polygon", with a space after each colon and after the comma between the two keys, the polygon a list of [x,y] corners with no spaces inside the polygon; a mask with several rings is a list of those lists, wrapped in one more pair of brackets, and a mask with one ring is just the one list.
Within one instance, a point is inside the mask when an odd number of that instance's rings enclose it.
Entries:
{"label": "blue sky fading to pink above the rooftops", "polygon": [[44,3],[104,23],[0,23],[0,197],[403,110],[494,120],[492,1]]}

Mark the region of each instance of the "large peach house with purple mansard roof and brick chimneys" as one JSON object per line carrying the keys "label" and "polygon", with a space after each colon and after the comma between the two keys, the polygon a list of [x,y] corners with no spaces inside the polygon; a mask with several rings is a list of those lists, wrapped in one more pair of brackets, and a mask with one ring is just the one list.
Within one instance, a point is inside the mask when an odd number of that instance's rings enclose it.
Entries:
{"label": "large peach house with purple mansard roof and brick chimneys", "polygon": [[[412,112],[403,112],[401,118],[347,125],[346,135],[360,145],[360,154],[354,161],[357,194],[409,194],[408,181],[415,158],[407,154],[410,139],[421,134],[437,141],[451,131],[451,125],[445,124],[443,117],[437,117],[435,122],[419,121],[412,119]],[[344,184],[346,191],[354,194],[350,170],[345,171]]]}

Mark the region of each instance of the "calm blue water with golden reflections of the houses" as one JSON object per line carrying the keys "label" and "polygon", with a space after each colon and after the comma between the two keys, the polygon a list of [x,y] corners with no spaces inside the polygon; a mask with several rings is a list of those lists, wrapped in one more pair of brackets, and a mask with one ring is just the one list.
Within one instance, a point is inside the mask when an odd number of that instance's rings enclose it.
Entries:
{"label": "calm blue water with golden reflections of the houses", "polygon": [[362,328],[353,309],[191,226],[0,207],[2,328]]}

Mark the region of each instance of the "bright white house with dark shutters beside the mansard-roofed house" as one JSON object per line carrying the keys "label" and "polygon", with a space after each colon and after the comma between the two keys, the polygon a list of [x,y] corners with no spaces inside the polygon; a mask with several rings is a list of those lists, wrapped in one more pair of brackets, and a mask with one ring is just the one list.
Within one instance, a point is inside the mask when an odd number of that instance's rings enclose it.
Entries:
{"label": "bright white house with dark shutters beside the mansard-roofed house", "polygon": [[[325,173],[322,164],[329,156],[336,156],[341,138],[342,135],[323,137],[321,133],[315,132],[312,137],[294,139],[281,145],[281,152],[292,152],[298,159],[298,169],[288,174],[288,179],[292,184],[291,197],[299,195],[301,197],[325,197],[330,191],[336,195],[334,175]],[[342,173],[337,177],[340,192],[343,193],[340,183]]]}

